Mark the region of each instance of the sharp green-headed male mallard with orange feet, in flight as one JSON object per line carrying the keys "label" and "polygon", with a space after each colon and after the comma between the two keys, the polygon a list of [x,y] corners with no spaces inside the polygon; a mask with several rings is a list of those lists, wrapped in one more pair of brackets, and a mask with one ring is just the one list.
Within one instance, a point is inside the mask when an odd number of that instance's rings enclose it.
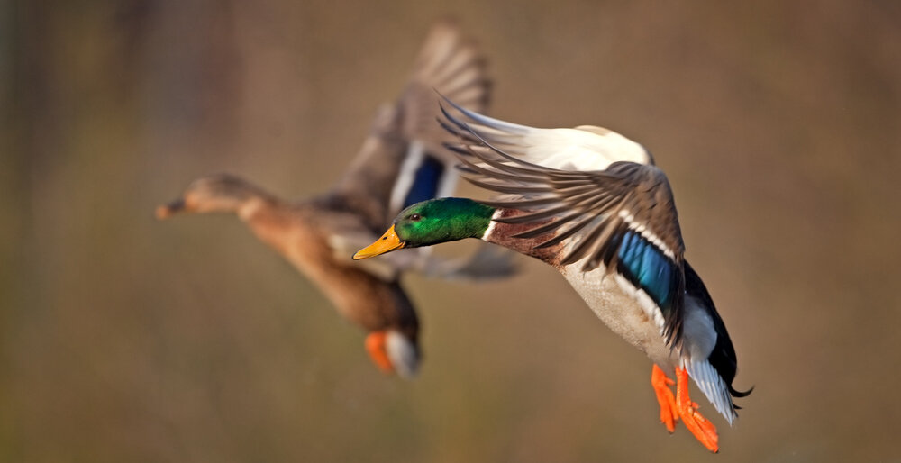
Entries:
{"label": "sharp green-headed male mallard with orange feet, in flight", "polygon": [[475,185],[507,196],[414,204],[354,259],[478,238],[551,264],[607,326],[654,362],[651,386],[667,429],[681,418],[715,452],[716,429],[688,397],[688,377],[730,424],[739,408],[732,397],[750,391],[732,386],[732,341],[684,258],[669,182],[651,153],[600,127],[536,129],[449,103],[461,117],[443,111],[442,125],[460,138],[451,148],[462,170]]}

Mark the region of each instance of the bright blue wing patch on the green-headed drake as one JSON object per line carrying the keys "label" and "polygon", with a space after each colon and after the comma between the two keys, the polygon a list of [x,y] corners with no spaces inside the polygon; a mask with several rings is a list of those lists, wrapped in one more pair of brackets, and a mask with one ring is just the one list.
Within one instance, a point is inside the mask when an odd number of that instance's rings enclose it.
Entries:
{"label": "bright blue wing patch on the green-headed drake", "polygon": [[631,231],[623,234],[618,257],[620,273],[642,288],[660,308],[669,308],[676,264],[651,241]]}

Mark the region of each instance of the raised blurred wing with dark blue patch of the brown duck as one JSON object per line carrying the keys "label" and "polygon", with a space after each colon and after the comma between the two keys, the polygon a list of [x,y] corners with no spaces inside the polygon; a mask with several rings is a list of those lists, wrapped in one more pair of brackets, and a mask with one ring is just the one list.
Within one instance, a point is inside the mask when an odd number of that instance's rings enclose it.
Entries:
{"label": "raised blurred wing with dark blue patch of the brown duck", "polygon": [[432,26],[404,91],[379,111],[333,192],[374,232],[383,232],[406,205],[450,195],[456,184],[455,160],[442,146],[453,137],[435,123],[436,90],[478,111],[490,94],[485,59],[451,21]]}

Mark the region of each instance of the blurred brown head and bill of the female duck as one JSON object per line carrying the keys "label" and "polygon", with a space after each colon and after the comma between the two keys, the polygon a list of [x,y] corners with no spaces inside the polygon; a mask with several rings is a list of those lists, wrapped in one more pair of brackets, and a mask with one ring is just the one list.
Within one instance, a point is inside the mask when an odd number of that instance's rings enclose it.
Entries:
{"label": "blurred brown head and bill of the female duck", "polygon": [[157,207],[157,218],[176,213],[241,213],[248,204],[269,201],[271,196],[258,186],[229,174],[200,177],[187,186],[180,198]]}

